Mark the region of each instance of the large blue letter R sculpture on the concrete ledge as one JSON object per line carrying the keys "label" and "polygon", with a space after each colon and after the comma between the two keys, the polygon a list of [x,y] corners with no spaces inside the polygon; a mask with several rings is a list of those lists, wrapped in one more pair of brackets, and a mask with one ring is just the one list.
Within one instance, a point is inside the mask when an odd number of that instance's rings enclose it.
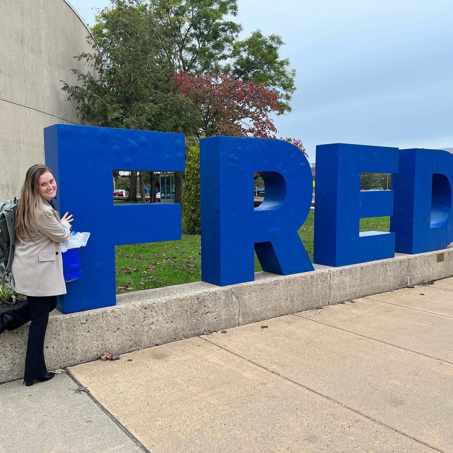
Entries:
{"label": "large blue letter R sculpture on the concrete ledge", "polygon": [[[253,176],[265,182],[254,209]],[[310,210],[312,176],[304,154],[282,140],[212,137],[200,141],[202,280],[224,286],[263,270],[313,270],[298,229]]]}

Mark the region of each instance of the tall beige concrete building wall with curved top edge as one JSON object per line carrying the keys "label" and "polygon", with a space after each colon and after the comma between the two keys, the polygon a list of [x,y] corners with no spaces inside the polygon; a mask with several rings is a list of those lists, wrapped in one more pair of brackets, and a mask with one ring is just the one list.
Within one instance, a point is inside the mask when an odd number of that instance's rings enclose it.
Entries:
{"label": "tall beige concrete building wall with curved top edge", "polygon": [[63,0],[0,0],[0,201],[19,195],[44,162],[43,128],[82,124],[60,80],[75,85],[74,55],[92,52],[89,30]]}

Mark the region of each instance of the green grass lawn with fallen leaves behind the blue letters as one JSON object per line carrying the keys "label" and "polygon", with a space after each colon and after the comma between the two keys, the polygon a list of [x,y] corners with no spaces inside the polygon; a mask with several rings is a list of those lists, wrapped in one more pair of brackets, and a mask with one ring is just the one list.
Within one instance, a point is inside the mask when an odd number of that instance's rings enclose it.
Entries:
{"label": "green grass lawn with fallen leaves behind the blue letters", "polygon": [[[313,261],[314,210],[299,229]],[[390,217],[361,219],[360,231],[389,231]],[[181,241],[116,246],[116,292],[159,288],[201,280],[200,236],[183,234]],[[261,269],[255,256],[255,272]]]}

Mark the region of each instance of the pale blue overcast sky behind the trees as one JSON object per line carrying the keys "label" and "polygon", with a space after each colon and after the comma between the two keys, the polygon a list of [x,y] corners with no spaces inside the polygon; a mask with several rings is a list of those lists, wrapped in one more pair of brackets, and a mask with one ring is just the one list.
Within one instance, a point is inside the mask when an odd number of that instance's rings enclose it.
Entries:
{"label": "pale blue overcast sky behind the trees", "polygon": [[[70,0],[85,21],[108,0]],[[304,142],[453,147],[452,0],[238,0],[244,36],[280,34],[297,70],[280,134]]]}

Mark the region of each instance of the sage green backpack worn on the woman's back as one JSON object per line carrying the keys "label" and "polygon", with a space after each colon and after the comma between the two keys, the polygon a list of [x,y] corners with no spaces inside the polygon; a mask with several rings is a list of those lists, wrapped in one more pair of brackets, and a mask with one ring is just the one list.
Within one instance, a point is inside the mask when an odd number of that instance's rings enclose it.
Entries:
{"label": "sage green backpack worn on the woman's back", "polygon": [[19,198],[0,202],[0,284],[5,287],[6,277],[11,276],[14,254],[14,215]]}

